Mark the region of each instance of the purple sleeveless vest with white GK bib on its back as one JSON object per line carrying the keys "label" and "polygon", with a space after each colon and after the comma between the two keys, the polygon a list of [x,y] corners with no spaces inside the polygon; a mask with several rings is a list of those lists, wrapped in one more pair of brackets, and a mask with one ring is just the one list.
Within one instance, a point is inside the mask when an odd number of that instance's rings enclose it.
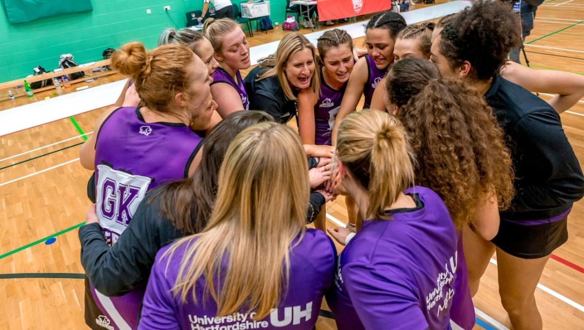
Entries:
{"label": "purple sleeveless vest with white GK bib on its back", "polygon": [[[112,245],[130,224],[147,191],[187,177],[203,139],[185,124],[145,122],[136,107],[115,110],[97,134],[96,209],[105,239]],[[106,297],[89,284],[88,298],[93,300],[89,303],[102,311],[91,320],[105,328],[137,327],[144,286],[124,296]]]}

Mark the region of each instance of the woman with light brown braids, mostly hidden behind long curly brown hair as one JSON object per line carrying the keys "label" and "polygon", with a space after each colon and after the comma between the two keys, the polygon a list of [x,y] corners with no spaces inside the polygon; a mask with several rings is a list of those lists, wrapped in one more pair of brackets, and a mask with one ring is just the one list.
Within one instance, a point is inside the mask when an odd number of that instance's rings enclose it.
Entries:
{"label": "woman with light brown braids, mostly hidden behind long curly brown hair", "polygon": [[[434,23],[411,24],[399,31],[395,38],[394,62],[404,58],[430,59],[430,47],[432,46],[432,31]],[[379,86],[385,86],[387,78],[381,79]],[[371,100],[371,108],[385,109],[385,88],[376,88]]]}

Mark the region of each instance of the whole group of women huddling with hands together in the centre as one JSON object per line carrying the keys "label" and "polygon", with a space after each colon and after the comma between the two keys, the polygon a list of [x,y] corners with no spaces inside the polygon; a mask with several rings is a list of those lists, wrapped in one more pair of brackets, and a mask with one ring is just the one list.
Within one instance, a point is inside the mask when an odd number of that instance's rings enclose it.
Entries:
{"label": "whole group of women huddling with hands together in the centre", "polygon": [[[86,323],[313,329],[325,298],[339,329],[471,329],[496,252],[513,328],[541,329],[534,290],[584,194],[558,113],[584,82],[507,62],[518,24],[499,2],[384,12],[366,54],[287,33],[245,78],[231,19],[123,45],[128,83],[81,149]],[[326,228],[339,194],[349,223]]]}

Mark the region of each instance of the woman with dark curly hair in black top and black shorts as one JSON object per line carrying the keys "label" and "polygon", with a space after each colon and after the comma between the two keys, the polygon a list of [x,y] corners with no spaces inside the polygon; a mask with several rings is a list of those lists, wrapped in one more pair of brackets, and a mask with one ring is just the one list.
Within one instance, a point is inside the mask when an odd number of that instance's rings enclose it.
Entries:
{"label": "woman with dark curly hair in black top and black shorts", "polygon": [[496,251],[499,293],[513,328],[541,329],[534,292],[551,252],[568,240],[568,214],[584,195],[584,177],[554,108],[499,76],[506,55],[521,42],[518,20],[502,3],[475,3],[444,27],[431,59],[443,75],[484,95],[505,131],[516,171],[516,195],[499,213],[495,238],[465,230],[472,293]]}

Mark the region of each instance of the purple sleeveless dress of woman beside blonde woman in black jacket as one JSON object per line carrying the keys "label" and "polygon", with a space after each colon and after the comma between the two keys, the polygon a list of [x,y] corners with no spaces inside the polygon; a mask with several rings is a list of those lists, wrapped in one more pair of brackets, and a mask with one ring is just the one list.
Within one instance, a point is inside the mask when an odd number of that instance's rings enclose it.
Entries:
{"label": "purple sleeveless dress of woman beside blonde woman in black jacket", "polygon": [[347,83],[339,90],[326,85],[321,75],[321,96],[314,106],[314,142],[317,145],[332,145],[332,127],[335,125],[336,115],[339,113],[340,102],[343,100]]}

